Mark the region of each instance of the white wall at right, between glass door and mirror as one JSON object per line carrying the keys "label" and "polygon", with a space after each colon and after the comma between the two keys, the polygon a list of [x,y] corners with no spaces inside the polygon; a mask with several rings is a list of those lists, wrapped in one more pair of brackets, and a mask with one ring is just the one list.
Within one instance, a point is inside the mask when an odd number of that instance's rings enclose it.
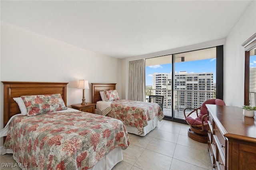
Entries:
{"label": "white wall at right, between glass door and mirror", "polygon": [[256,1],[230,31],[224,45],[224,101],[229,106],[244,105],[244,47],[247,39],[256,33]]}

